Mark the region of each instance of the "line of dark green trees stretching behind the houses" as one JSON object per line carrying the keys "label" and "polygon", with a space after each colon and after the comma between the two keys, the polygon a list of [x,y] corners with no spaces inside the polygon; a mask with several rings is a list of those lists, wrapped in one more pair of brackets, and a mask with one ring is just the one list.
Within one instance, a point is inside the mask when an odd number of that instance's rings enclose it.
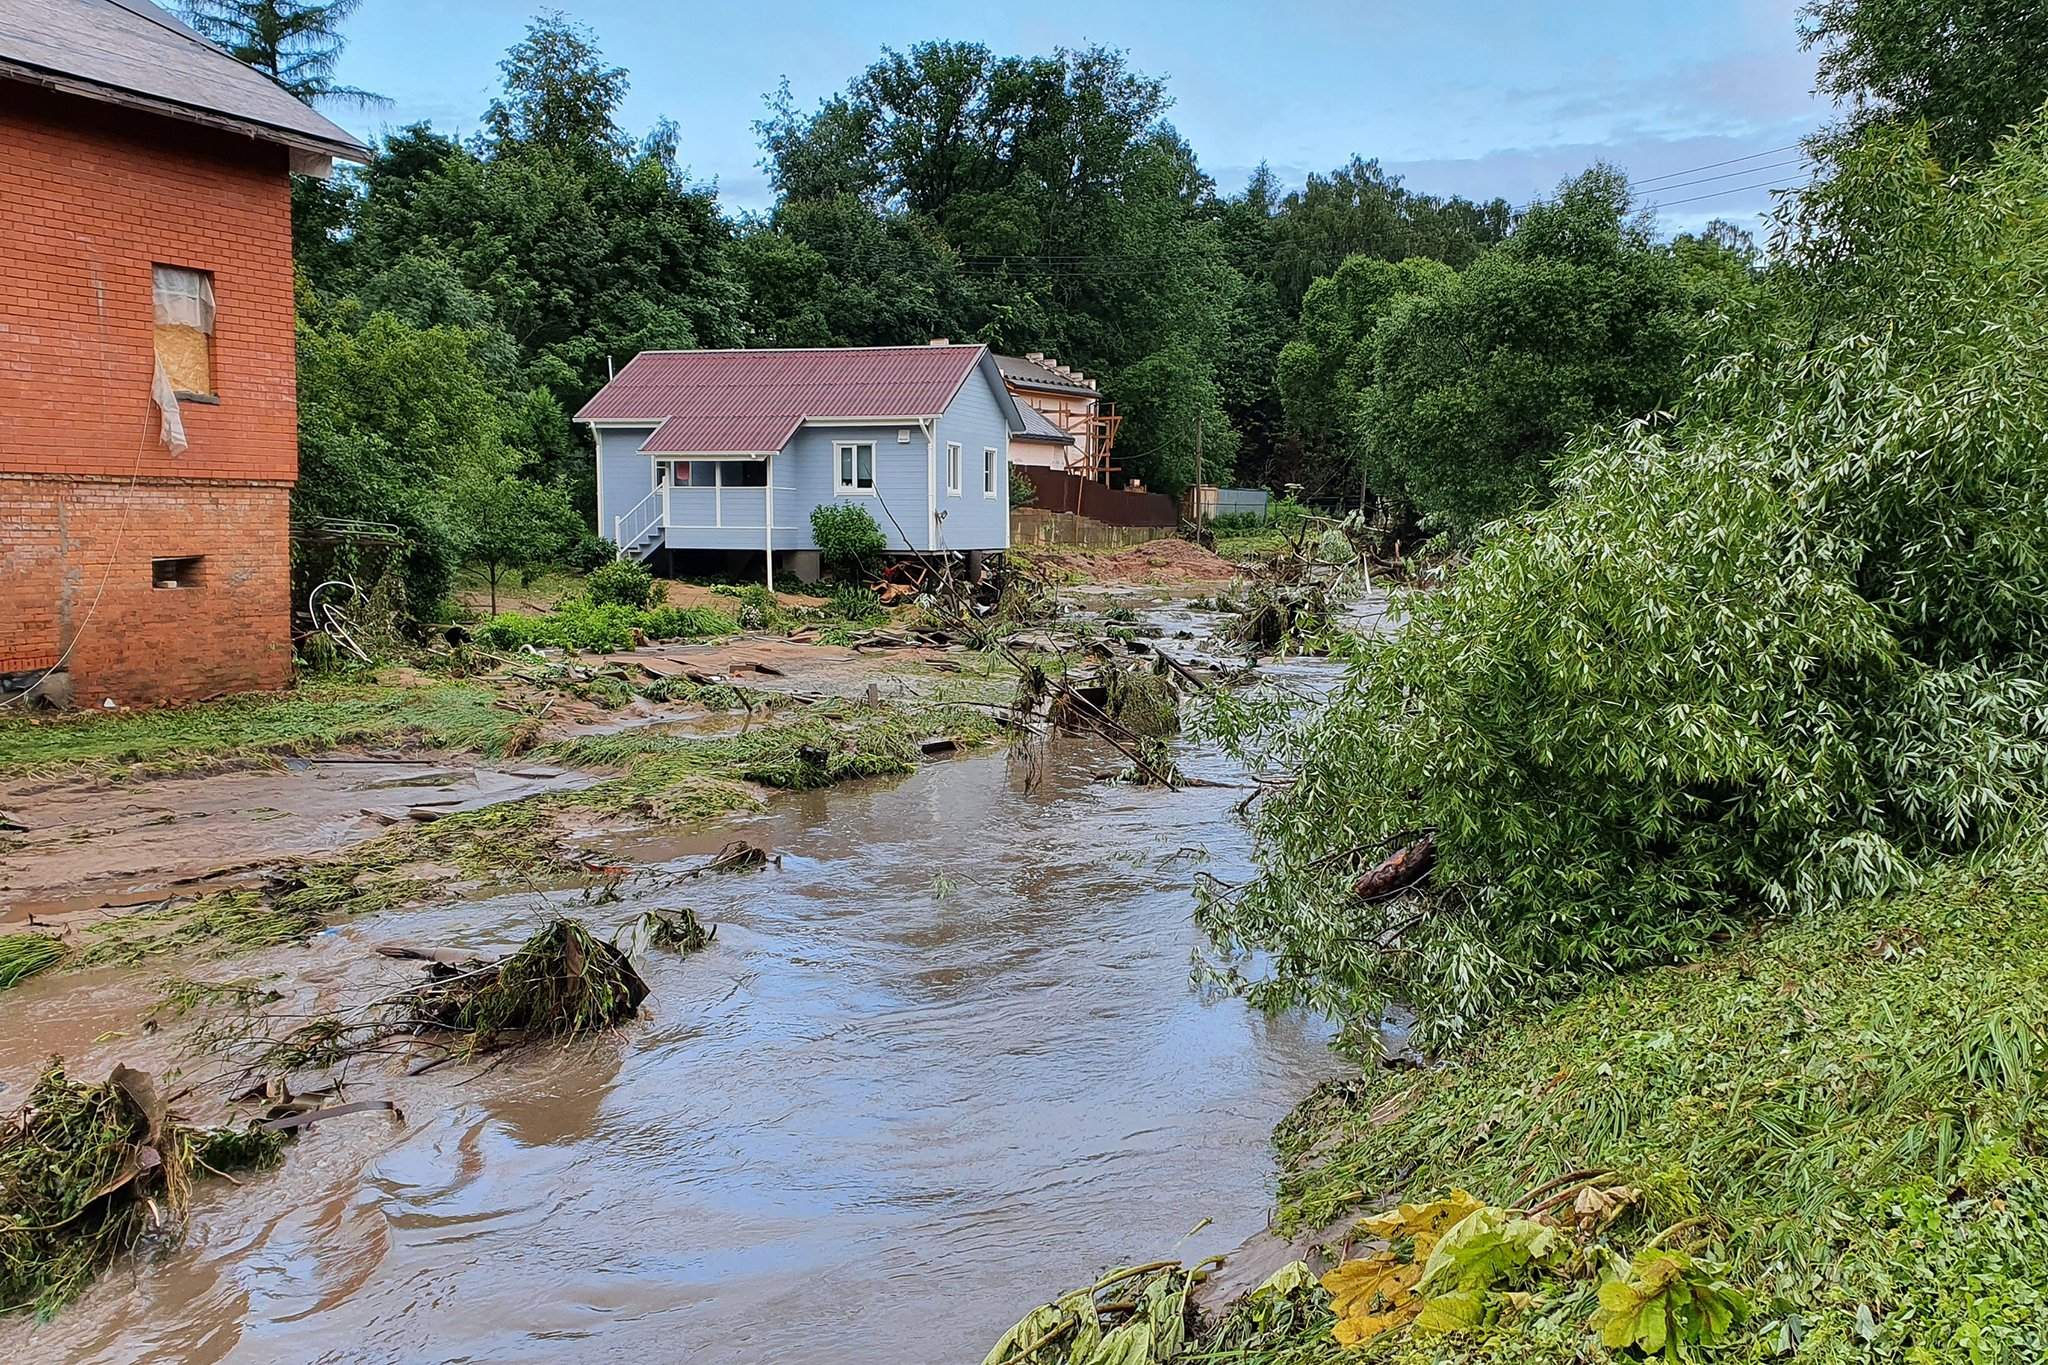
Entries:
{"label": "line of dark green trees stretching behind the houses", "polygon": [[[295,94],[375,102],[338,80],[358,6],[188,16]],[[2036,23],[1976,8],[1985,29]],[[1909,108],[1921,84],[1894,68],[1913,35],[1894,29],[1913,14],[1808,6],[1823,86]],[[1964,47],[1948,59],[1991,59]],[[1219,188],[1165,82],[1104,47],[920,43],[813,108],[784,86],[754,125],[766,213],[692,180],[674,123],[621,127],[629,74],[569,18],[535,18],[500,70],[473,137],[416,123],[293,196],[301,514],[397,522],[416,596],[489,555],[485,493],[512,540],[600,553],[578,528],[594,489],[567,415],[647,348],[1040,350],[1102,379],[1126,477],[1180,491],[1200,432],[1210,481],[1298,483],[1468,536],[1540,503],[1573,432],[1669,405],[1700,321],[1761,297],[1741,231],[1659,241],[1606,166],[1522,211],[1364,158],[1294,190],[1264,166]],[[1970,127],[2001,108],[1972,106]]]}

